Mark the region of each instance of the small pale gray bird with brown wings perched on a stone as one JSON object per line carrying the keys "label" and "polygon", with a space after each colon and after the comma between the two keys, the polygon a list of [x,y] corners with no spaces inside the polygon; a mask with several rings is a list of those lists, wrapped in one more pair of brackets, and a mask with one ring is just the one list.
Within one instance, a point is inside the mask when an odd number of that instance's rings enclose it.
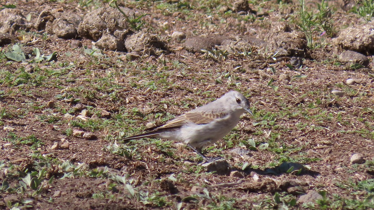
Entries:
{"label": "small pale gray bird with brown wings perched on a stone", "polygon": [[156,137],[180,141],[186,143],[204,160],[210,160],[201,153],[202,149],[226,136],[239,123],[240,115],[245,112],[253,115],[248,99],[242,93],[230,91],[209,104],[123,140]]}

